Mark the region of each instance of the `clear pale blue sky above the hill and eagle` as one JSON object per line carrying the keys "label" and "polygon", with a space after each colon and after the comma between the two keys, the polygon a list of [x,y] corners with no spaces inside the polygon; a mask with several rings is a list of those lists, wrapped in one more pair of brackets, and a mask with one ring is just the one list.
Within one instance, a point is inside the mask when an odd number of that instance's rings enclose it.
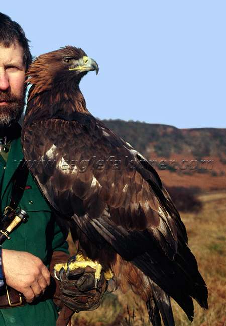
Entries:
{"label": "clear pale blue sky above the hill and eagle", "polygon": [[225,1],[20,0],[1,11],[33,55],[74,45],[97,61],[81,81],[94,116],[226,127]]}

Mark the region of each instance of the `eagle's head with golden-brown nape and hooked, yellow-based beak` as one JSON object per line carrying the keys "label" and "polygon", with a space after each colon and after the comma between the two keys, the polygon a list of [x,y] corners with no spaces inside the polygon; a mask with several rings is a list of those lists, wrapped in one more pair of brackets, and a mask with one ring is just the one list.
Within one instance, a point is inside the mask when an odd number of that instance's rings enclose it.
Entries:
{"label": "eagle's head with golden-brown nape and hooked, yellow-based beak", "polygon": [[36,94],[56,87],[75,87],[92,70],[96,74],[99,71],[95,60],[80,48],[66,46],[37,57],[29,66],[26,83],[34,86]]}

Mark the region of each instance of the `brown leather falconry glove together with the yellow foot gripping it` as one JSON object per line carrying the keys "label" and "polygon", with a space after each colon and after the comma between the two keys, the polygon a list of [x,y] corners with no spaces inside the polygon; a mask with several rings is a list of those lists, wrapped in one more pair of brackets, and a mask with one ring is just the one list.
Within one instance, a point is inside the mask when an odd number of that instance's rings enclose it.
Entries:
{"label": "brown leather falconry glove together with the yellow foot gripping it", "polygon": [[[79,255],[81,258],[81,255]],[[77,255],[78,258],[78,255]],[[59,262],[59,260],[58,260]],[[61,261],[62,262],[62,261]],[[75,265],[81,264],[85,267]],[[97,309],[101,303],[104,292],[107,289],[107,275],[102,270],[97,272],[97,268],[92,268],[88,264],[95,266],[94,262],[81,263],[76,260],[76,256],[69,258],[66,264],[55,265],[55,271],[60,267],[60,271],[55,272],[55,277],[59,281],[58,306],[62,308],[57,326],[66,325],[74,312]],[[61,267],[62,266],[62,267]],[[97,274],[99,274],[97,276]],[[98,279],[97,279],[98,278]],[[109,279],[109,278],[108,278]],[[58,281],[56,281],[58,282]]]}

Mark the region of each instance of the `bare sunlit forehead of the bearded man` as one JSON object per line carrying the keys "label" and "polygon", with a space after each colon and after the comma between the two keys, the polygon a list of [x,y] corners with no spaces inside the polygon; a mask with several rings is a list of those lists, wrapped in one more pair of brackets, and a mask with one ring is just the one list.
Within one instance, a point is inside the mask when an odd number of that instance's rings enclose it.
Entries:
{"label": "bare sunlit forehead of the bearded man", "polygon": [[24,50],[17,42],[13,42],[8,47],[0,43],[0,65],[3,64],[19,64],[24,66]]}

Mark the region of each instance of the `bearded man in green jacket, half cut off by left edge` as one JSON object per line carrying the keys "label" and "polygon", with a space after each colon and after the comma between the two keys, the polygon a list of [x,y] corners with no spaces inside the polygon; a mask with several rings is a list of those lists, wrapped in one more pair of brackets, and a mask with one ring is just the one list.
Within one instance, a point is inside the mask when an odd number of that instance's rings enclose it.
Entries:
{"label": "bearded man in green jacket, half cut off by left edge", "polygon": [[[1,213],[11,202],[15,175],[23,159],[20,126],[24,108],[25,73],[31,63],[28,40],[19,24],[0,13],[0,195]],[[50,263],[68,259],[67,234],[56,223],[53,212],[28,174],[19,207],[29,218],[2,245],[0,264],[0,326],[55,325],[58,317],[50,285]],[[55,261],[54,261],[54,259]],[[52,262],[51,262],[52,259]],[[3,280],[4,275],[4,280]],[[5,290],[4,290],[5,288]],[[6,288],[22,293],[26,302],[15,306]],[[5,292],[4,292],[5,291]],[[13,291],[13,290],[12,290]],[[16,291],[15,291],[16,292]],[[16,294],[18,295],[18,292]],[[45,292],[45,295],[42,294]],[[11,293],[11,292],[10,292]],[[19,302],[19,304],[18,304]],[[18,304],[18,305],[17,305]],[[72,303],[73,305],[73,303]],[[98,304],[97,304],[98,305]],[[10,307],[9,309],[5,309]],[[77,311],[79,309],[75,309]],[[81,309],[80,309],[81,310]]]}

